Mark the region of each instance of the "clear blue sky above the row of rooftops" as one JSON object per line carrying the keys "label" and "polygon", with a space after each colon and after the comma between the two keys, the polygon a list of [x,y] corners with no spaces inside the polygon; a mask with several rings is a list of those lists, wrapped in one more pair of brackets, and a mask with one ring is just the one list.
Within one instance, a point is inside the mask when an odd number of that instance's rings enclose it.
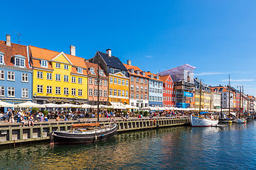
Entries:
{"label": "clear blue sky above the row of rooftops", "polygon": [[196,67],[205,84],[256,95],[256,1],[1,1],[0,40],[91,58],[97,50],[144,71]]}

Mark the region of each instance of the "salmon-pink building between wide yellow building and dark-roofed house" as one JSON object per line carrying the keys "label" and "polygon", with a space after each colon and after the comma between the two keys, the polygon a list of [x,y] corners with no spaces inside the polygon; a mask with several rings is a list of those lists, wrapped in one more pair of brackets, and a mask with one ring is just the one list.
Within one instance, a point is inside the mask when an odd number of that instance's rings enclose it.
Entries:
{"label": "salmon-pink building between wide yellow building and dark-roofed house", "polygon": [[[97,105],[97,75],[98,75],[98,66],[92,62],[85,62],[87,67],[88,75],[88,104]],[[99,101],[102,105],[107,105],[108,97],[108,77],[107,73],[99,66]]]}

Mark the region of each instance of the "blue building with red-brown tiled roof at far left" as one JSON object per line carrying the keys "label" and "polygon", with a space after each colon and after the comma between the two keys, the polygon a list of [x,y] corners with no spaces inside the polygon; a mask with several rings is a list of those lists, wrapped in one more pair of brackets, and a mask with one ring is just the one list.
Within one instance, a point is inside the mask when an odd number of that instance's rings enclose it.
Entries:
{"label": "blue building with red-brown tiled roof at far left", "polygon": [[[32,74],[28,47],[0,40],[0,100],[8,103],[32,101]],[[18,108],[14,108],[18,109]],[[1,108],[6,112],[7,108]]]}

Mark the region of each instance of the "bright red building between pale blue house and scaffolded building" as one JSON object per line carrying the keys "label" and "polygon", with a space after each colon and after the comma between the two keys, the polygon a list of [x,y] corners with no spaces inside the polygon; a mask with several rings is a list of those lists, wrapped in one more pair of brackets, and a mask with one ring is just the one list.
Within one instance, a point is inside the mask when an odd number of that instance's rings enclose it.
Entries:
{"label": "bright red building between pale blue house and scaffolded building", "polygon": [[175,107],[176,106],[176,95],[174,91],[174,81],[170,75],[161,76],[160,79],[163,81],[163,104],[164,107]]}

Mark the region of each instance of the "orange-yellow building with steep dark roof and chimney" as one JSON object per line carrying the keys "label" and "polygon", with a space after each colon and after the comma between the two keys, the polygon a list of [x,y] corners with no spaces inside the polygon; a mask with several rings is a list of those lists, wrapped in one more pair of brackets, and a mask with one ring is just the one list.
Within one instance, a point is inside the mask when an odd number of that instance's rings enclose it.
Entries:
{"label": "orange-yellow building with steep dark roof and chimney", "polygon": [[89,60],[100,67],[108,74],[109,78],[109,102],[112,105],[129,104],[129,74],[127,68],[114,57],[110,49],[106,53],[97,51],[95,57]]}

